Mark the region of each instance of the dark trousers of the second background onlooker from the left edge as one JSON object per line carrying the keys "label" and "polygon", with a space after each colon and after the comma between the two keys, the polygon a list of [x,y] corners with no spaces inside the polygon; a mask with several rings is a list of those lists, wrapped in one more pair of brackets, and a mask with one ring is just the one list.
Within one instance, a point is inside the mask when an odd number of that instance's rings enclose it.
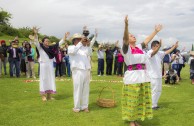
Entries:
{"label": "dark trousers of the second background onlooker from the left edge", "polygon": [[10,73],[10,77],[13,77],[13,73],[14,73],[14,66],[16,69],[16,77],[20,76],[20,61],[18,59],[9,59],[9,73]]}

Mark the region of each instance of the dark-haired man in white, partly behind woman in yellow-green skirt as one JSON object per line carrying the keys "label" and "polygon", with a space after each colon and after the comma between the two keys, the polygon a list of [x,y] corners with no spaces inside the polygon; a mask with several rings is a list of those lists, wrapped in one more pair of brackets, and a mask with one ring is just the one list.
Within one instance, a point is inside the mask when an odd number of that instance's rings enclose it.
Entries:
{"label": "dark-haired man in white, partly behind woman in yellow-green skirt", "polygon": [[[158,51],[155,55],[153,50],[161,46],[162,41],[153,41],[151,44],[151,50],[147,52],[150,57],[148,60],[148,72],[151,80],[151,90],[152,90],[152,108],[158,109],[158,100],[162,92],[162,67],[161,63],[166,54],[171,53],[175,48],[178,47],[178,42],[166,51]],[[159,48],[158,48],[159,49]]]}

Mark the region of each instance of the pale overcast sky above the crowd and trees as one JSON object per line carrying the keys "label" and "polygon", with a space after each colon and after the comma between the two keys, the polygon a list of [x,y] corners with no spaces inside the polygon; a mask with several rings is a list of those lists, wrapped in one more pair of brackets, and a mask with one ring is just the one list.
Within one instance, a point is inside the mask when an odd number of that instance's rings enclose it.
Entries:
{"label": "pale overcast sky above the crowd and trees", "polygon": [[81,33],[84,25],[91,33],[97,28],[100,42],[122,42],[124,17],[129,31],[142,42],[163,24],[154,39],[163,46],[177,40],[179,49],[194,44],[194,0],[0,0],[0,7],[12,14],[14,27],[38,26],[40,32],[62,38],[66,31]]}

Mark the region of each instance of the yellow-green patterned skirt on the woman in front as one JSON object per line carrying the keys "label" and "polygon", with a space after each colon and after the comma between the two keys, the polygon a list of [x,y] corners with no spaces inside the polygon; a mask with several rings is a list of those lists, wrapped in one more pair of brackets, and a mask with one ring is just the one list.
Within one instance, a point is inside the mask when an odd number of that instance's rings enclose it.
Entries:
{"label": "yellow-green patterned skirt on the woman in front", "polygon": [[152,119],[150,83],[123,85],[122,119],[125,121]]}

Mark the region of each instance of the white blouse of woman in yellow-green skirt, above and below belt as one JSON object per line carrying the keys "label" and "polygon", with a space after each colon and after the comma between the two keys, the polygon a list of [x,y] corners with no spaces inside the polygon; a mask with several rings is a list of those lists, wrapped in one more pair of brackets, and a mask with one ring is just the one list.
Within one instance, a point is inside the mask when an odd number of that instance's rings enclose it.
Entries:
{"label": "white blouse of woman in yellow-green skirt, above and below belt", "polygon": [[[141,44],[138,44],[136,47],[142,50]],[[122,52],[124,57],[124,61],[126,65],[133,65],[133,64],[146,64],[148,56],[146,54],[132,54],[131,48],[128,48],[128,52],[126,54]],[[124,84],[138,84],[144,82],[150,82],[150,78],[148,76],[147,70],[127,70],[124,74],[123,78]]]}

